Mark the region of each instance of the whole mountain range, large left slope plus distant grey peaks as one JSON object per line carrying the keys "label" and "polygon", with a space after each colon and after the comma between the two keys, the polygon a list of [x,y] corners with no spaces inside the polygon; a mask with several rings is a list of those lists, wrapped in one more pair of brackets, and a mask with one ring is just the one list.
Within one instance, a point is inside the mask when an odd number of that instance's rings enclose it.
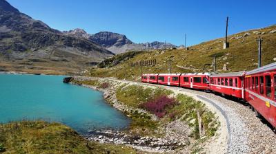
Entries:
{"label": "whole mountain range, large left slope plus distant grey peaks", "polygon": [[[176,47],[166,43],[167,48]],[[164,43],[133,43],[124,34],[61,32],[0,0],[0,72],[70,74],[129,50],[162,49]]]}

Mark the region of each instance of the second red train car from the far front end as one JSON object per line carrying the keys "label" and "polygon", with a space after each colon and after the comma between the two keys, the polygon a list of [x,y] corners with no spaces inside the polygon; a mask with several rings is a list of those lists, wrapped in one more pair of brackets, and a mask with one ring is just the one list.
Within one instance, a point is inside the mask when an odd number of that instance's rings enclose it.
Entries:
{"label": "second red train car from the far front end", "polygon": [[179,86],[180,75],[181,74],[159,74],[158,84]]}

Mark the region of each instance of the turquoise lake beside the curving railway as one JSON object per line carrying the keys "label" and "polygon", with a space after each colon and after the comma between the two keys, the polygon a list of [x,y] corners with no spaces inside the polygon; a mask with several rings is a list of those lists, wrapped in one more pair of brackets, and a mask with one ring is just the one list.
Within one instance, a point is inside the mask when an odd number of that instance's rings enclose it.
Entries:
{"label": "turquoise lake beside the curving railway", "polygon": [[64,76],[0,74],[0,122],[61,122],[82,135],[90,130],[121,130],[130,120],[103,100],[103,94],[62,83]]}

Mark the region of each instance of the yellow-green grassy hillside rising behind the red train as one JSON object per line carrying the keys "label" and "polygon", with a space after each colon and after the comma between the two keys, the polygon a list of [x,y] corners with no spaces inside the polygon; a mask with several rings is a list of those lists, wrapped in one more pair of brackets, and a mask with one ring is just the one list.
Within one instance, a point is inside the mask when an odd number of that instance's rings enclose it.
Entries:
{"label": "yellow-green grassy hillside rising behind the red train", "polygon": [[[115,77],[115,72],[117,70],[118,78],[124,78],[124,74],[127,72],[126,78],[128,80],[137,80],[141,74],[140,67],[130,67],[128,63],[155,58],[157,59],[157,65],[154,67],[144,67],[144,73],[168,73],[169,61],[172,61],[172,72],[203,72],[204,64],[212,63],[213,55],[215,54],[217,55],[218,72],[222,72],[222,67],[227,63],[227,72],[251,70],[257,68],[256,63],[258,59],[258,45],[256,39],[260,34],[254,34],[253,32],[255,31],[260,33],[265,32],[265,34],[262,34],[262,39],[264,39],[262,46],[262,64],[267,65],[274,62],[273,58],[276,58],[276,33],[269,33],[272,30],[276,30],[276,25],[259,30],[249,30],[247,31],[249,36],[244,38],[243,36],[247,32],[228,36],[230,47],[226,50],[222,49],[224,39],[216,39],[200,43],[199,45],[193,45],[188,51],[166,50],[166,52],[164,52],[161,50],[154,50],[151,52],[143,52],[113,67],[91,69],[89,75]],[[227,57],[227,59],[225,57]],[[177,67],[177,65],[180,67]],[[213,72],[212,67],[207,67],[207,70],[207,72]]]}

